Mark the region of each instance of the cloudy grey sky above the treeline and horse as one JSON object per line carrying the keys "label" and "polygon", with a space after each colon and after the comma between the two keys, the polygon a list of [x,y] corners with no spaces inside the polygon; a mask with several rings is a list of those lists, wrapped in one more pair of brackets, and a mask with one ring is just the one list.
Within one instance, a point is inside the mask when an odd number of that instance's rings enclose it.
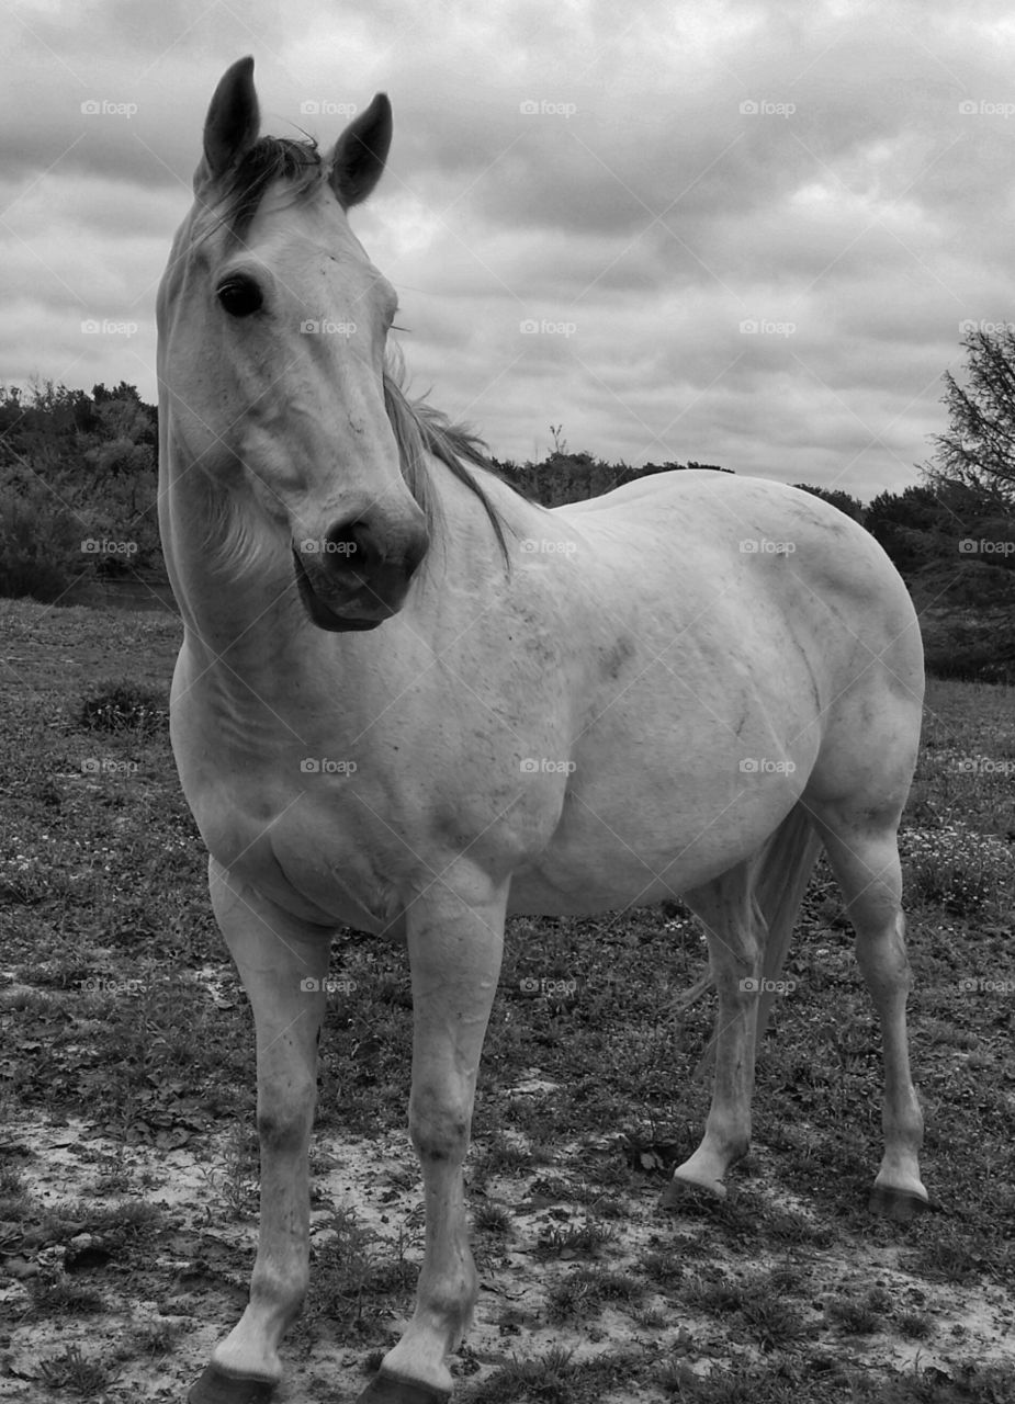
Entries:
{"label": "cloudy grey sky above the treeline and horse", "polygon": [[[4,7],[0,380],[154,400],[154,291],[215,83],[330,146],[413,389],[500,458],[917,482],[963,323],[1015,319],[1007,4],[25,0]],[[100,330],[83,330],[98,323]]]}

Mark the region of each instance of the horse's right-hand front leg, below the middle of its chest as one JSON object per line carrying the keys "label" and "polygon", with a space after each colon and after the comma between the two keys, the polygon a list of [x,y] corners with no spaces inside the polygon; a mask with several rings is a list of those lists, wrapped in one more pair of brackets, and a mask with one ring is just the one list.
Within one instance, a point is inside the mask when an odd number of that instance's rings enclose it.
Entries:
{"label": "horse's right-hand front leg, below the middle of its chest", "polygon": [[479,1294],[462,1164],[500,977],[505,903],[507,886],[473,873],[455,892],[438,880],[409,908],[416,1029],[409,1129],[423,1167],[425,1252],[413,1320],[358,1404],[442,1404],[451,1396],[448,1355]]}

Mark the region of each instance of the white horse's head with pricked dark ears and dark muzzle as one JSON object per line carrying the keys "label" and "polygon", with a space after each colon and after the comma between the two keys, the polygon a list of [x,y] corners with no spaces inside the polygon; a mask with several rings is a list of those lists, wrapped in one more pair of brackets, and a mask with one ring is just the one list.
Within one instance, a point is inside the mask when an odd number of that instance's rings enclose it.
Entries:
{"label": "white horse's head with pricked dark ears and dark muzzle", "polygon": [[316,625],[369,629],[402,607],[428,545],[385,409],[397,298],[345,213],[380,178],[390,105],[378,94],[329,154],[258,138],[253,69],[240,59],[215,90],[159,289],[166,442],[216,518],[253,512],[244,542],[271,539]]}

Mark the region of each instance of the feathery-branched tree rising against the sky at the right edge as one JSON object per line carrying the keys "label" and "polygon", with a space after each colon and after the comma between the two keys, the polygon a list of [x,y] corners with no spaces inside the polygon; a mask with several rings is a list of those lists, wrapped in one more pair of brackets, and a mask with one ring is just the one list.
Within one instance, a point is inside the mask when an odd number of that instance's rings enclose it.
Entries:
{"label": "feathery-branched tree rising against the sky at the right edge", "polygon": [[934,438],[924,473],[932,486],[957,483],[1015,507],[1015,330],[983,331],[963,338],[969,383],[945,372],[950,428]]}

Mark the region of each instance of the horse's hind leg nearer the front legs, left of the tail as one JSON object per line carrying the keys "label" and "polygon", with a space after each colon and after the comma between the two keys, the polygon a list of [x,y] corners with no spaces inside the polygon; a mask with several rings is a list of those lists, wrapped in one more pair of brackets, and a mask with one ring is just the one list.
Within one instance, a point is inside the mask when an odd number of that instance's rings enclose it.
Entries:
{"label": "horse's hind leg nearer the front legs, left of the tail", "polygon": [[663,1195],[667,1206],[679,1200],[682,1186],[723,1198],[726,1171],[747,1154],[764,955],[762,921],[751,896],[747,863],[684,893],[684,900],[705,924],[709,942],[709,966],[719,995],[716,1066],[705,1137],[694,1155],[674,1171]]}

